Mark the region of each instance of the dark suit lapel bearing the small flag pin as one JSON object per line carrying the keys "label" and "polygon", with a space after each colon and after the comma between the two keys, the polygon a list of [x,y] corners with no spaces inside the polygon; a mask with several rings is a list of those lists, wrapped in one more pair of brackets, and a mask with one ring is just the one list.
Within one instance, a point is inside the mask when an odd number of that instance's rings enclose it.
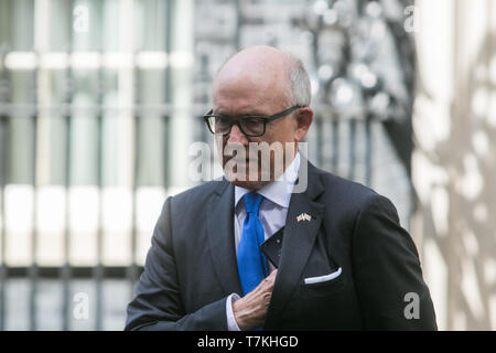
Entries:
{"label": "dark suit lapel bearing the small flag pin", "polygon": [[[303,162],[308,161],[302,159]],[[315,170],[315,167],[309,163],[306,191],[294,193],[291,196],[285,221],[284,240],[282,242],[281,261],[263,327],[265,330],[276,328],[277,319],[300,284],[301,274],[323,221],[325,206],[313,201],[324,190]],[[309,214],[311,220],[298,222],[296,217],[302,213]]]}

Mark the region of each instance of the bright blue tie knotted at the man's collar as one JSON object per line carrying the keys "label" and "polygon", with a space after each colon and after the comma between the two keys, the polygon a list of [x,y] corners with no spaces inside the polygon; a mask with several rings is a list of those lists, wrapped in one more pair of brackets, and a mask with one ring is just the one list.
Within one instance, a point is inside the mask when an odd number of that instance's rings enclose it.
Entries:
{"label": "bright blue tie knotted at the man's collar", "polygon": [[266,256],[260,252],[260,244],[265,240],[263,226],[258,218],[262,196],[257,193],[247,193],[245,200],[246,218],[242,224],[241,240],[238,245],[238,274],[242,295],[254,290],[269,269]]}

